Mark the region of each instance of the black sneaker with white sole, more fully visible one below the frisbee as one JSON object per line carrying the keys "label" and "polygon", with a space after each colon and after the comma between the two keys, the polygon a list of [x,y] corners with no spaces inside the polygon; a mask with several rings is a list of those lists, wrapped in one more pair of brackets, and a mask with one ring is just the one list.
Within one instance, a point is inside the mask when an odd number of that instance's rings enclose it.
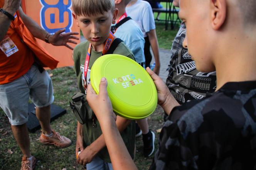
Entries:
{"label": "black sneaker with white sole, more fully visible one below the frisbee", "polygon": [[142,140],[143,140],[143,155],[144,157],[149,157],[152,155],[152,153],[155,150],[155,133],[152,131],[149,131],[147,134],[142,135]]}

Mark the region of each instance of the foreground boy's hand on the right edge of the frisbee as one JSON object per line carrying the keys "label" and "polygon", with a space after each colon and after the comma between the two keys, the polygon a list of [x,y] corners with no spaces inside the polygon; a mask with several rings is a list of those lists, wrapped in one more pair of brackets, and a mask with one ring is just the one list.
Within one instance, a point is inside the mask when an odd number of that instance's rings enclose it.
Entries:
{"label": "foreground boy's hand on the right edge of the frisbee", "polygon": [[170,90],[165,85],[163,80],[156,75],[149,67],[146,68],[148,74],[153,79],[155,86],[157,88],[157,98],[158,104],[165,110],[165,113],[170,114],[173,107],[179,106],[180,104],[175,100],[175,98],[170,93]]}

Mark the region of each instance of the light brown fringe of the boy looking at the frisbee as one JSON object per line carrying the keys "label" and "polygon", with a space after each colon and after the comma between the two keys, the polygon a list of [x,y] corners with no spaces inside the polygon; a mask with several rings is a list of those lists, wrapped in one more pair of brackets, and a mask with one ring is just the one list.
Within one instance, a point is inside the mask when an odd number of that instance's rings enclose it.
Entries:
{"label": "light brown fringe of the boy looking at the frisbee", "polygon": [[74,13],[78,16],[85,15],[97,15],[103,14],[115,9],[114,0],[72,0],[72,8]]}

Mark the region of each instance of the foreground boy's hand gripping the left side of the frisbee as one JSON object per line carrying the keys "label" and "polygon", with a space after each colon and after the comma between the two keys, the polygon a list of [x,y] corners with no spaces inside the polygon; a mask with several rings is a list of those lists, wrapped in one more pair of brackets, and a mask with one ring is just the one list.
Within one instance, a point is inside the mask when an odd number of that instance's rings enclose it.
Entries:
{"label": "foreground boy's hand gripping the left side of the frisbee", "polygon": [[93,109],[99,122],[113,117],[116,120],[115,113],[113,113],[113,107],[108,97],[107,91],[108,82],[106,78],[101,78],[99,84],[99,94],[93,90],[91,84],[89,84],[87,89],[86,100],[88,101],[90,107]]}

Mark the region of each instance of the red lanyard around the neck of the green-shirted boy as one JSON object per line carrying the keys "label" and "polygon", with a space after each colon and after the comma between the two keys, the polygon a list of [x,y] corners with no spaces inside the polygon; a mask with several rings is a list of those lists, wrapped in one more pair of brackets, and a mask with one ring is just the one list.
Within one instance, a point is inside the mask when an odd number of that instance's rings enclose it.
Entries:
{"label": "red lanyard around the neck of the green-shirted boy", "polygon": [[[104,49],[102,51],[102,55],[105,55],[108,52],[111,44],[113,43],[113,40],[114,40],[114,35],[112,32],[109,32]],[[84,89],[85,89],[85,91],[87,91],[86,75],[88,72],[88,65],[89,65],[90,57],[91,57],[91,43],[89,44],[88,52],[87,52],[86,59],[84,62],[84,86],[85,86]]]}

